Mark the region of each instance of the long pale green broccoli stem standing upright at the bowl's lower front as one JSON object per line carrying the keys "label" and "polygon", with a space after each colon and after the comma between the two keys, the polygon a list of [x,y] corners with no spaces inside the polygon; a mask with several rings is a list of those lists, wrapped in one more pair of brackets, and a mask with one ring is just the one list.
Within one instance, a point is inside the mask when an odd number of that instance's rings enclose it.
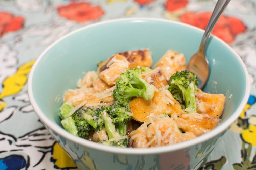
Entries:
{"label": "long pale green broccoli stem standing upright at the bowl's lower front", "polygon": [[101,112],[102,119],[106,128],[109,139],[119,137],[120,135],[116,132],[115,125],[113,124],[112,119],[106,113],[106,111]]}

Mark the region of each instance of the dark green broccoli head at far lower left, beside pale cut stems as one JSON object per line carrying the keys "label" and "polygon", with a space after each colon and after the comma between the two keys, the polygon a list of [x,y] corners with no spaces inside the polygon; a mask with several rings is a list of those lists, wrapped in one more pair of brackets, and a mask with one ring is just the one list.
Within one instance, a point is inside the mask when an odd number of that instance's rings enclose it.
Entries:
{"label": "dark green broccoli head at far lower left, beside pale cut stems", "polygon": [[71,118],[74,120],[75,126],[77,128],[77,136],[81,138],[87,138],[89,135],[90,125],[83,118],[81,108],[75,111],[75,113],[71,115]]}

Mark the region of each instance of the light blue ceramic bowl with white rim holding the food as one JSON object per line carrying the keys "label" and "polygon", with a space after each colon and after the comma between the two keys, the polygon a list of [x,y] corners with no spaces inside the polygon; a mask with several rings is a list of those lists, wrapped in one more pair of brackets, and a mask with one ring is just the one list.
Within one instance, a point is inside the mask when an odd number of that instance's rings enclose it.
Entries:
{"label": "light blue ceramic bowl with white rim holding the food", "polygon": [[55,99],[65,90],[76,88],[83,72],[96,70],[99,61],[117,52],[149,48],[156,62],[166,50],[173,49],[184,53],[189,61],[202,35],[201,29],[160,19],[120,19],[83,27],[57,40],[37,59],[28,81],[31,104],[80,169],[194,169],[242,112],[249,95],[248,72],[240,57],[222,40],[210,39],[206,56],[211,72],[204,91],[226,95],[226,106],[220,124],[195,139],[146,149],[100,145],[62,128],[58,116],[62,102],[56,103]]}

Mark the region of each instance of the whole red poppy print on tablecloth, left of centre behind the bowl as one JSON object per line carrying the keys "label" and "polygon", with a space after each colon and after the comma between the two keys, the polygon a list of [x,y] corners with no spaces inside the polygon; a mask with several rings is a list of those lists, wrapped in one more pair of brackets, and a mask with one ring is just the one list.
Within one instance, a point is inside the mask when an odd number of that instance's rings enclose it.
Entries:
{"label": "whole red poppy print on tablecloth, left of centre behind the bowl", "polygon": [[100,6],[92,6],[88,2],[71,2],[69,5],[59,6],[57,10],[61,17],[78,22],[97,20],[104,15]]}

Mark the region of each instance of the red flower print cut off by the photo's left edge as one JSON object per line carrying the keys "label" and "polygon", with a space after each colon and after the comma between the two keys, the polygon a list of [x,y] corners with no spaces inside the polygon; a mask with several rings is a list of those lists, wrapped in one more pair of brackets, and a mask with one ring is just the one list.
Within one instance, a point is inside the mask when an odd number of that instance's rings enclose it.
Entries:
{"label": "red flower print cut off by the photo's left edge", "polygon": [[23,17],[13,16],[8,12],[0,12],[0,38],[8,32],[22,29],[23,23]]}

